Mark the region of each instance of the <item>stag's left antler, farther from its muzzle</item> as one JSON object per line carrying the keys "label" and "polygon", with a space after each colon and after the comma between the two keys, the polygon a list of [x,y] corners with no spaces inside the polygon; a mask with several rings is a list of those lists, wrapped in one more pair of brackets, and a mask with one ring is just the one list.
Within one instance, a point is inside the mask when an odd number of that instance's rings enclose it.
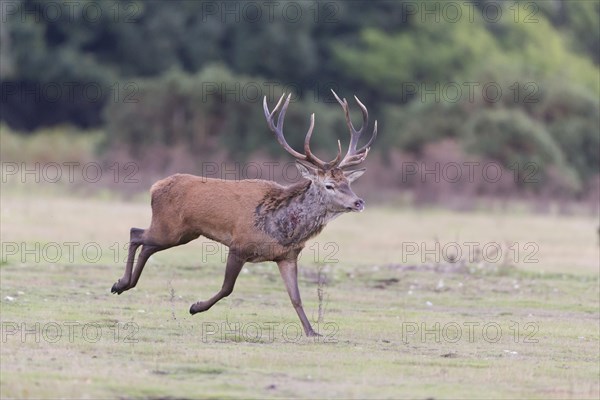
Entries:
{"label": "stag's left antler, farther from its muzzle", "polygon": [[269,125],[269,128],[275,134],[277,141],[288,153],[290,153],[292,156],[294,156],[298,160],[309,162],[312,165],[314,165],[315,167],[318,167],[320,169],[331,169],[333,167],[336,167],[340,163],[340,160],[342,158],[342,146],[341,146],[339,140],[338,140],[338,154],[333,160],[331,160],[329,162],[320,160],[310,151],[310,138],[312,136],[313,128],[315,127],[315,114],[314,113],[311,114],[311,116],[310,116],[310,126],[308,128],[308,132],[306,133],[306,138],[304,139],[304,153],[305,154],[299,153],[296,150],[294,150],[285,140],[285,137],[283,136],[283,121],[285,119],[285,112],[287,111],[288,105],[290,104],[291,96],[292,96],[292,94],[290,93],[288,95],[287,99],[285,100],[285,103],[283,103],[283,107],[281,108],[281,112],[279,113],[279,117],[277,118],[277,125],[275,125],[275,122],[273,121],[273,117],[279,110],[279,107],[281,106],[281,102],[283,101],[283,98],[285,97],[285,93],[281,95],[281,97],[279,98],[279,101],[277,102],[277,105],[275,105],[275,108],[273,108],[272,112],[269,111],[269,107],[267,106],[267,96],[265,96],[263,99],[263,109],[265,111],[265,118],[267,119],[267,124]]}

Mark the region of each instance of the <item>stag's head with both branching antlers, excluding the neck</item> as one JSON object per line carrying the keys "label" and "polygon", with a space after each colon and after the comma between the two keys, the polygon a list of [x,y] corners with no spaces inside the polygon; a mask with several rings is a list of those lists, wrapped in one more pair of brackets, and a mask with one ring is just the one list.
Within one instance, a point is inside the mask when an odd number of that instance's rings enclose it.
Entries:
{"label": "stag's head with both branching antlers, excluding the neck", "polygon": [[[285,119],[285,113],[290,103],[291,94],[287,96],[282,107],[282,101],[285,97],[285,94],[283,94],[279,98],[279,101],[272,112],[269,111],[267,106],[267,98],[265,96],[263,100],[265,117],[267,119],[267,123],[269,124],[269,128],[271,131],[273,131],[273,133],[275,133],[275,137],[277,138],[279,144],[294,158],[296,158],[296,166],[298,167],[298,170],[302,176],[306,179],[309,179],[314,187],[317,188],[324,203],[327,204],[328,211],[333,213],[349,211],[361,212],[365,208],[365,202],[352,191],[350,185],[352,182],[358,179],[366,171],[366,169],[348,170],[347,168],[362,163],[367,157],[370,146],[377,136],[377,121],[375,121],[373,134],[371,135],[368,143],[357,150],[356,147],[358,145],[358,141],[367,128],[369,122],[369,113],[367,108],[360,102],[360,100],[358,100],[356,96],[354,96],[354,99],[358,103],[363,114],[363,126],[357,131],[350,120],[348,102],[346,99],[340,100],[338,95],[333,90],[331,92],[344,110],[346,124],[348,125],[348,129],[350,131],[350,144],[348,145],[348,151],[343,158],[342,146],[339,140],[337,156],[331,161],[325,162],[320,160],[310,150],[310,138],[315,126],[314,113],[310,116],[310,127],[308,128],[308,132],[306,133],[306,137],[304,139],[304,154],[297,152],[287,143],[285,137],[283,136],[283,122]],[[277,124],[275,124],[274,116],[280,110],[280,107],[281,112],[277,118]]]}

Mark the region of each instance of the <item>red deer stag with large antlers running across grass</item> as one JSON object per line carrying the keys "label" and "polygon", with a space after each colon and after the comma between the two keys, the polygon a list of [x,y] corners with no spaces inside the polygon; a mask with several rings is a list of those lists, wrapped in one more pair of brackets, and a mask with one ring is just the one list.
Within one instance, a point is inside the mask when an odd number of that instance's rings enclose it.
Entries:
{"label": "red deer stag with large antlers running across grass", "polygon": [[[363,211],[365,203],[354,194],[350,184],[365,169],[348,171],[346,168],[360,164],[367,157],[369,146],[377,136],[375,121],[370,140],[357,150],[359,138],[368,125],[367,108],[354,97],[363,115],[363,126],[356,130],[350,120],[348,102],[340,100],[335,92],[333,95],[344,110],[350,130],[350,144],[344,158],[339,141],[338,154],[332,161],[322,161],[311,152],[314,114],[304,140],[304,154],[292,149],[283,136],[290,96],[281,107],[285,96],[282,95],[272,112],[265,97],[263,107],[269,128],[281,146],[297,159],[297,168],[304,179],[287,187],[258,179],[228,181],[185,174],[156,182],[150,189],[150,228],[131,228],[125,273],[113,285],[112,292],[121,294],[135,287],[152,254],[205,236],[229,247],[225,279],[217,294],[192,304],[191,314],[206,311],[230,295],[246,262],[275,261],[306,335],[317,335],[300,300],[298,255],[306,241],[320,233],[329,221],[345,212]],[[280,107],[275,124],[274,116]],[[136,250],[140,246],[134,269]]]}

